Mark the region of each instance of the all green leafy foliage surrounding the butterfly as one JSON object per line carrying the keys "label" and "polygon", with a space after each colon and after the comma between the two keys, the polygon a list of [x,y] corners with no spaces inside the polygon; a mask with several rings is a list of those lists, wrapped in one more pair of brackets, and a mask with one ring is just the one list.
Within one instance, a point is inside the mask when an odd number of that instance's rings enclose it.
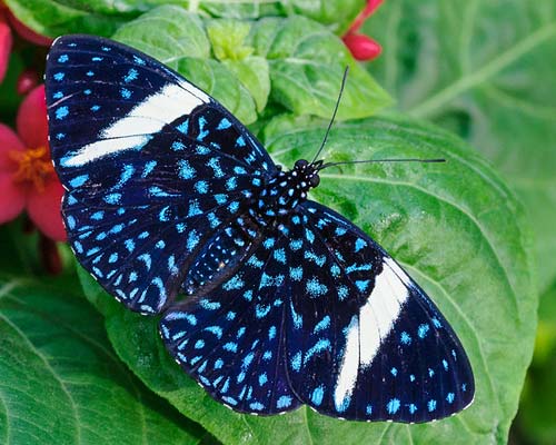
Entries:
{"label": "all green leafy foliage surrounding the butterfly", "polygon": [[[366,23],[384,47],[367,65],[337,37],[359,0],[6,3],[43,34],[112,36],[167,62],[250,123],[287,166],[319,145],[349,65],[327,158],[448,164],[347,167],[322,175],[315,198],[424,285],[469,353],[477,396],[458,416],[416,426],[345,423],[305,408],[237,415],[175,366],[156,320],[122,310],[63,246],[63,274],[46,276],[20,218],[0,227],[0,442],[556,441],[553,0],[388,0]],[[40,50],[16,48],[0,86],[0,120],[9,123],[20,71],[43,69]]]}

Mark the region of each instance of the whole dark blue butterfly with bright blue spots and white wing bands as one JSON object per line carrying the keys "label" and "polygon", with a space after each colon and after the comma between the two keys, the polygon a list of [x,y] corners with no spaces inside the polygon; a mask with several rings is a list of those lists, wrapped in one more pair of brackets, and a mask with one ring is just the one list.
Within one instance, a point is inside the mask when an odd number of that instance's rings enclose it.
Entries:
{"label": "whole dark blue butterfly with bright blue spots and white wing bands", "polygon": [[69,244],[176,362],[240,413],[308,405],[428,422],[474,397],[469,360],[368,235],[308,199],[322,160],[278,167],[209,95],[112,40],[58,38],[46,91]]}

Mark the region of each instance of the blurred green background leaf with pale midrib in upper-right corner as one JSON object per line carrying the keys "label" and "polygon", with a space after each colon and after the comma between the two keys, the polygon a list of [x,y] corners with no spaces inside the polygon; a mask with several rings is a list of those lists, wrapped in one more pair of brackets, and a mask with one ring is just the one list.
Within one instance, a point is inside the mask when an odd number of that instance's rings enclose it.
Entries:
{"label": "blurred green background leaf with pale midrib in upper-right corner", "polygon": [[525,201],[546,289],[556,280],[554,0],[387,2],[366,29],[385,46],[369,69],[400,108],[456,130]]}

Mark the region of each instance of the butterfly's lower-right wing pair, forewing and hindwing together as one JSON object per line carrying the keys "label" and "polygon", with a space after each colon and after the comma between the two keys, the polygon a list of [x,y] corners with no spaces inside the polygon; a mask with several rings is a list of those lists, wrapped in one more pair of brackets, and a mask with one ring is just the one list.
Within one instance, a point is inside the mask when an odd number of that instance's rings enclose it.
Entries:
{"label": "butterfly's lower-right wing pair, forewing and hindwing together", "polygon": [[396,422],[470,403],[459,340],[376,243],[315,202],[277,233],[228,283],[161,320],[170,354],[212,397],[247,413],[307,404]]}

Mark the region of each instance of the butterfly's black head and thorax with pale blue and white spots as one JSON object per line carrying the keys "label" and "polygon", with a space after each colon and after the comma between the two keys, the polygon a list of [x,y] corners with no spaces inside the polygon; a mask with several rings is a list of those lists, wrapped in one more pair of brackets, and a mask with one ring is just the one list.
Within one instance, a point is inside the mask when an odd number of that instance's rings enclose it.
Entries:
{"label": "butterfly's black head and thorax with pale blue and white spots", "polygon": [[318,186],[320,162],[296,161],[289,171],[279,171],[264,187],[256,200],[256,211],[266,218],[289,214],[299,202],[307,199],[307,192]]}

